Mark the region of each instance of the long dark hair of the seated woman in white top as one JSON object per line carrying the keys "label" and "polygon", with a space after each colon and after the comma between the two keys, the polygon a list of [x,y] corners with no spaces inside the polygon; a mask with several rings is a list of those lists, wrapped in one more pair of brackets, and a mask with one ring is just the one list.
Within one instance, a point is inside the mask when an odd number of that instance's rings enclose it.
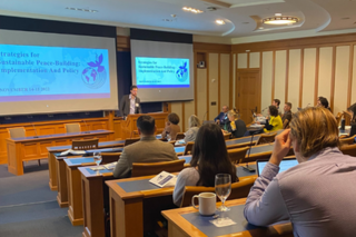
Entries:
{"label": "long dark hair of the seated woman in white top", "polygon": [[198,167],[197,186],[214,187],[217,174],[229,174],[231,182],[238,181],[236,167],[227,154],[221,128],[215,124],[207,124],[199,128],[191,151],[190,166]]}

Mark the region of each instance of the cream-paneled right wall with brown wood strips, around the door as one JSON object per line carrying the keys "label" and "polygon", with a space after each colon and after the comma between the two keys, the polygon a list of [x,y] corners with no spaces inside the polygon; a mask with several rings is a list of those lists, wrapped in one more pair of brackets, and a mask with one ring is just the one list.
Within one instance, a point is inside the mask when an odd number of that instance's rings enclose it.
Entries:
{"label": "cream-paneled right wall with brown wood strips, around the door", "polygon": [[231,53],[234,73],[260,69],[260,108],[277,98],[297,111],[323,96],[336,115],[356,102],[356,33],[234,45]]}

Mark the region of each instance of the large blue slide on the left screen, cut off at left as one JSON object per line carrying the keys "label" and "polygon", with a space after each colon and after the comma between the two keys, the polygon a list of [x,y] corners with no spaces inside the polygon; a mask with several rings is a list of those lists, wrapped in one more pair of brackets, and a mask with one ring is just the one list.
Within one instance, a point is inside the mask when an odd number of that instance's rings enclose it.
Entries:
{"label": "large blue slide on the left screen, cut off at left", "polygon": [[0,45],[0,102],[110,97],[107,49]]}

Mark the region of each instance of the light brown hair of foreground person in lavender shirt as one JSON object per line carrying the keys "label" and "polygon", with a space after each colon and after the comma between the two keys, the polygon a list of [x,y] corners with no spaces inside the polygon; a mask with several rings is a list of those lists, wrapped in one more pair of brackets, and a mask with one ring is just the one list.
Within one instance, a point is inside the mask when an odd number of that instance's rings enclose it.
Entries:
{"label": "light brown hair of foreground person in lavender shirt", "polygon": [[303,157],[310,157],[327,147],[339,147],[336,119],[325,108],[309,107],[300,110],[293,116],[289,126]]}

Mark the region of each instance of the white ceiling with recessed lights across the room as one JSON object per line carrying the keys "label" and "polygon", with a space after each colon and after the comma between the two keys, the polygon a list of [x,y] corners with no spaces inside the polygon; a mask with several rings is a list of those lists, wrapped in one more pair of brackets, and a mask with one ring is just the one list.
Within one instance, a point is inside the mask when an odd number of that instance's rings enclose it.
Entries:
{"label": "white ceiling with recessed lights across the room", "polygon": [[[66,10],[67,7],[98,12],[71,11]],[[182,7],[205,12],[185,12]],[[208,7],[217,10],[208,11]],[[297,17],[299,22],[284,27],[261,23],[263,18],[275,13]],[[0,14],[237,38],[355,29],[356,0],[0,0]],[[226,24],[216,24],[217,19],[225,20]]]}

